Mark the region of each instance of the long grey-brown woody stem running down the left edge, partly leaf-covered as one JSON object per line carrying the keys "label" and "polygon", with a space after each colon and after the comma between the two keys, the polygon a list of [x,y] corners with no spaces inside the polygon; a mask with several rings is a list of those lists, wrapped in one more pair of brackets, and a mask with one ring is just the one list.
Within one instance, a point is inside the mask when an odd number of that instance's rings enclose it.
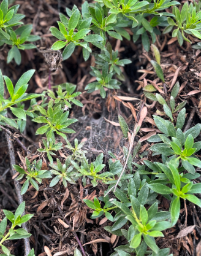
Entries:
{"label": "long grey-brown woody stem running down the left edge, partly leaf-covered", "polygon": [[[10,173],[11,175],[15,175],[16,171],[13,169],[12,165],[15,165],[15,151],[13,149],[13,144],[11,141],[11,137],[8,133],[6,133],[6,139],[7,139],[7,144],[9,147],[9,157],[10,157]],[[18,198],[18,203],[21,204],[24,200],[23,200],[23,196],[21,195],[21,185],[20,182],[18,182],[18,180],[14,179],[14,184],[15,184],[15,191],[17,193],[17,198]],[[23,212],[23,215],[25,214],[25,211]],[[23,223],[22,227],[29,233],[28,231],[28,225],[27,223]],[[29,243],[29,238],[25,238],[24,239],[25,242],[25,256],[28,256],[31,247],[30,247],[30,243]]]}

